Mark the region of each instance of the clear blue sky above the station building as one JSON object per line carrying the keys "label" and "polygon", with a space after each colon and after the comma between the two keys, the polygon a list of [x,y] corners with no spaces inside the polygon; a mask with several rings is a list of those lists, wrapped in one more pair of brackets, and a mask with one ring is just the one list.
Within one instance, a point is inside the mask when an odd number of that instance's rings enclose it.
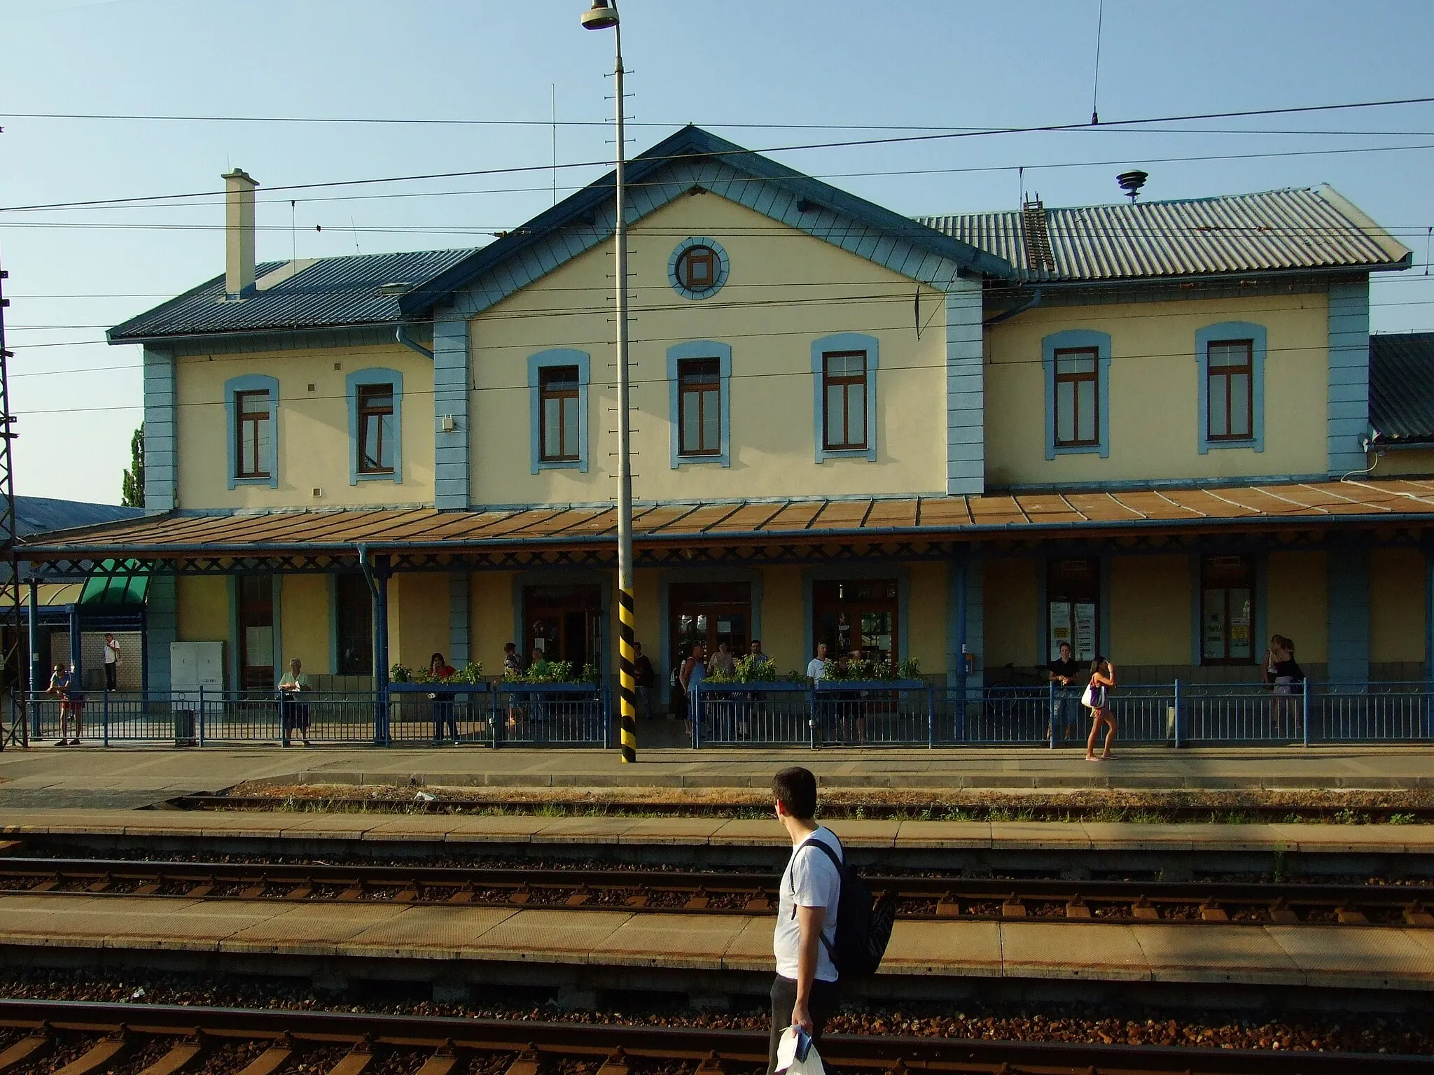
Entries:
{"label": "clear blue sky above the station building", "polygon": [[[554,92],[566,125],[558,130],[559,161],[611,158],[601,120],[611,115],[612,40],[579,27],[585,7],[587,0],[0,0],[6,113],[533,120],[11,115],[0,118],[0,206],[214,191],[221,172],[242,166],[264,185],[261,259],[482,245],[489,232],[551,204],[549,172],[305,192],[293,209],[288,195],[265,199],[265,188],[542,165],[552,158]],[[741,125],[1030,126],[1090,118],[1097,0],[624,0],[622,11],[634,149],[685,122],[771,148],[865,132]],[[1431,42],[1428,0],[1106,0],[1100,115],[1108,122],[1430,96]],[[1375,328],[1434,328],[1434,285],[1423,277],[1434,224],[1434,106],[1184,126],[774,156],[905,214],[1015,206],[1021,165],[1025,189],[1047,205],[1117,201],[1114,175],[1131,165],[1150,172],[1147,198],[1331,182],[1415,251],[1418,268],[1405,280],[1375,284]],[[1421,148],[1299,155],[1381,146]],[[1239,156],[1163,159],[1217,155]],[[1073,162],[1100,163],[1048,168]],[[956,171],[972,168],[995,171]],[[559,172],[559,195],[601,171]],[[139,348],[106,347],[103,328],[221,272],[222,251],[214,198],[159,209],[0,212],[17,353],[20,493],[118,502],[142,413]]]}

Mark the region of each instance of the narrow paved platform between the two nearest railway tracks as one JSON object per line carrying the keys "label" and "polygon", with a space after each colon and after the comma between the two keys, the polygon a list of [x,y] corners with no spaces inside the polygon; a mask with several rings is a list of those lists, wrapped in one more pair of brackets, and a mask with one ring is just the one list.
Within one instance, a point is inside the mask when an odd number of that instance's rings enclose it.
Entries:
{"label": "narrow paved platform between the two nearest railway tracks", "polygon": [[[189,900],[126,896],[0,896],[7,962],[95,950],[151,962],[188,953],[209,968],[244,962],[315,973],[463,975],[463,965],[771,973],[771,916],[625,910],[432,907],[393,903]],[[159,960],[165,962],[165,960]],[[168,960],[171,965],[174,960]],[[400,972],[400,965],[407,965]],[[275,973],[281,970],[275,969]],[[1021,979],[1240,983],[1357,990],[1434,990],[1434,930],[1394,926],[1256,926],[1068,922],[896,923],[880,979]],[[591,980],[591,978],[588,979]],[[708,982],[711,978],[707,979]]]}

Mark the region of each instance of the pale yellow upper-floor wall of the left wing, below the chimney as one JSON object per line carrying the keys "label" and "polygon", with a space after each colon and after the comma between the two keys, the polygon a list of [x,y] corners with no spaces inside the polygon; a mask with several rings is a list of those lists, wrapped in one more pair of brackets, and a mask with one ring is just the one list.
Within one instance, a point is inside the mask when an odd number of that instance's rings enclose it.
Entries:
{"label": "pale yellow upper-floor wall of the left wing, below the chimney", "polygon": [[[176,358],[175,366],[181,509],[433,503],[433,363],[423,355],[391,344],[196,355]],[[346,378],[367,368],[403,374],[402,483],[348,483]],[[224,386],[251,374],[278,380],[277,489],[228,487]]]}

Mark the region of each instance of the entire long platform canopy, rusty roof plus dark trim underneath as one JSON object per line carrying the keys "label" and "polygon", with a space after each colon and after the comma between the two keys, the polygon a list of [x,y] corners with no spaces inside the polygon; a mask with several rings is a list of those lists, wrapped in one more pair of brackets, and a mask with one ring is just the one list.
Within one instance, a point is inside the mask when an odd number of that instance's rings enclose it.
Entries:
{"label": "entire long platform canopy, rusty roof plus dark trim underneath", "polygon": [[[641,506],[634,517],[640,566],[936,559],[1032,542],[1174,549],[1212,535],[1324,540],[1374,527],[1417,540],[1428,526],[1434,480],[1411,479],[663,503]],[[37,535],[19,553],[44,578],[83,573],[106,592],[135,593],[138,576],[155,573],[357,570],[376,558],[396,570],[608,566],[615,527],[607,505],[166,515]],[[142,599],[142,588],[138,593]]]}

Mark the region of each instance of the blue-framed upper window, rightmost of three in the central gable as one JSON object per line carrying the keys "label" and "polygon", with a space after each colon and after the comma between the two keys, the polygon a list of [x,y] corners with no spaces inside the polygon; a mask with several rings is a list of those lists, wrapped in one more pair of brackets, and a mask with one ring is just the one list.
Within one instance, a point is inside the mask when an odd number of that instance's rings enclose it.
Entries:
{"label": "blue-framed upper window, rightmost of three in the central gable", "polygon": [[876,462],[876,337],[839,333],[812,343],[816,462]]}

